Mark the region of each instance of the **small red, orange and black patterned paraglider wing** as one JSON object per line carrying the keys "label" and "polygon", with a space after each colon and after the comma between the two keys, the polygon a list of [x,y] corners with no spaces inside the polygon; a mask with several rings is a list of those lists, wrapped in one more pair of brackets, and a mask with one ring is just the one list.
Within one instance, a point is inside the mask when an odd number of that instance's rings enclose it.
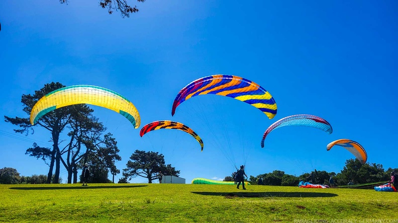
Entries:
{"label": "small red, orange and black patterned paraglider wing", "polygon": [[174,122],[169,120],[151,122],[142,127],[140,131],[140,136],[142,137],[146,133],[158,129],[178,129],[186,133],[189,133],[193,138],[196,139],[196,141],[199,144],[201,144],[202,147],[201,151],[203,151],[203,140],[201,139],[201,137],[198,136],[191,128],[179,122]]}

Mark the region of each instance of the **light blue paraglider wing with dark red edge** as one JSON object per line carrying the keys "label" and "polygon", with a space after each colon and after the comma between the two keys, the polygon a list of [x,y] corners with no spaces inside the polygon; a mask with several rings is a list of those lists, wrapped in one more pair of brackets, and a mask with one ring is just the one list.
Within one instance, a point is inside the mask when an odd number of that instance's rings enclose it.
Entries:
{"label": "light blue paraglider wing with dark red edge", "polygon": [[265,130],[264,135],[261,140],[261,148],[264,147],[264,140],[267,135],[274,129],[283,126],[308,126],[325,131],[328,134],[333,132],[332,126],[325,119],[315,116],[315,115],[291,115],[279,119],[270,125],[267,130]]}

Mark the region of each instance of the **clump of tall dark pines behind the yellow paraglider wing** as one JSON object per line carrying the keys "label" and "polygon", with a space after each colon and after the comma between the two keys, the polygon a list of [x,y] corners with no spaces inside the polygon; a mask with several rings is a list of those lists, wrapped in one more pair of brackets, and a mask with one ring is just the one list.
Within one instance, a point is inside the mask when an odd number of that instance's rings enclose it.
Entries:
{"label": "clump of tall dark pines behind the yellow paraglider wing", "polygon": [[[22,95],[23,111],[30,116],[32,108],[44,95],[54,90],[65,87],[61,83],[49,83],[34,95]],[[87,156],[95,160],[98,168],[101,168],[105,178],[108,177],[108,169],[112,174],[120,173],[115,166],[116,160],[121,160],[118,155],[117,141],[112,138],[111,133],[104,135],[107,130],[98,118],[92,115],[93,109],[85,104],[70,105],[55,109],[40,117],[35,125],[31,125],[28,117],[9,117],[5,116],[5,121],[17,125],[14,129],[17,133],[34,134],[34,128],[41,127],[48,130],[51,134],[50,141],[53,142],[52,148],[38,146],[28,148],[25,154],[29,154],[37,159],[42,159],[49,165],[47,183],[59,183],[61,163],[68,171],[68,183],[77,182],[77,169],[81,167],[78,163],[87,161]],[[70,130],[66,132],[65,130]],[[65,131],[64,134],[61,134]],[[101,164],[101,165],[99,165]],[[53,177],[53,170],[55,173]],[[100,171],[98,171],[100,172]],[[73,177],[73,179],[72,179]],[[104,181],[104,180],[102,180]],[[101,182],[102,182],[101,181]]]}

